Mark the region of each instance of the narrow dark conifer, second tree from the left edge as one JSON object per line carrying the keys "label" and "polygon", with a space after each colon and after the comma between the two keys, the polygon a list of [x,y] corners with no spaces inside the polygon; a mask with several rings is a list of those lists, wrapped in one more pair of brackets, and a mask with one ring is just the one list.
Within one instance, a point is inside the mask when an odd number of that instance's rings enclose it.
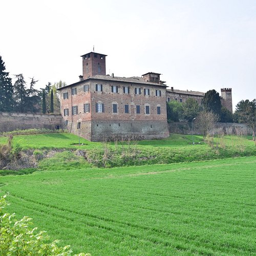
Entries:
{"label": "narrow dark conifer, second tree from the left edge", "polygon": [[13,86],[14,91],[14,110],[16,112],[25,113],[26,110],[26,81],[23,74],[15,75],[16,81]]}

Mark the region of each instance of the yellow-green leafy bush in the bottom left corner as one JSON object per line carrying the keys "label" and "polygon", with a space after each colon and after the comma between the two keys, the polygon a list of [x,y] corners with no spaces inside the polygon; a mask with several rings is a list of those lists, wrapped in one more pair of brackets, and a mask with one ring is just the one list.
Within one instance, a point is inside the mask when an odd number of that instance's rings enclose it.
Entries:
{"label": "yellow-green leafy bush in the bottom left corner", "polygon": [[[49,241],[46,231],[31,228],[31,218],[15,219],[15,214],[4,213],[6,196],[0,199],[0,254],[1,255],[72,255],[70,246],[59,247],[58,240]],[[80,253],[82,255],[90,255]]]}

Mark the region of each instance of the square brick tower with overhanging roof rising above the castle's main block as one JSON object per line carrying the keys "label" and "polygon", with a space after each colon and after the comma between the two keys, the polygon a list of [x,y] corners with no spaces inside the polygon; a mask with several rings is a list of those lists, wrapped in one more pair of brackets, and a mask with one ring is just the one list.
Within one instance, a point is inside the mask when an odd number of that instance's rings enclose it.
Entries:
{"label": "square brick tower with overhanging roof rising above the castle's main block", "polygon": [[82,57],[82,76],[83,79],[95,75],[106,75],[106,57],[107,55],[89,52],[81,55]]}

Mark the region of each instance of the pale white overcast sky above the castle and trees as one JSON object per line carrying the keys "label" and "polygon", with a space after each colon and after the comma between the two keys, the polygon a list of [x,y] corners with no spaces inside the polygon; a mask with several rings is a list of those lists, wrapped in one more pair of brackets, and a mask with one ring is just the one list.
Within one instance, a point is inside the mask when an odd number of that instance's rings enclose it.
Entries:
{"label": "pale white overcast sky above the castle and trees", "polygon": [[167,86],[232,88],[233,110],[256,98],[255,0],[0,0],[0,55],[37,88],[82,74],[80,55],[108,55],[106,73],[161,73]]}

